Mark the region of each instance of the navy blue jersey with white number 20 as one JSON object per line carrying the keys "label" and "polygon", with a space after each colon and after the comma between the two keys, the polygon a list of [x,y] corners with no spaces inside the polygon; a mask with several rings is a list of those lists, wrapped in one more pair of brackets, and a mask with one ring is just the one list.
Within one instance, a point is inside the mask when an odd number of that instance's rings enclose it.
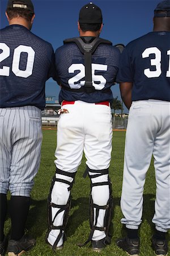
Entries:
{"label": "navy blue jersey with white number 20", "polygon": [[45,81],[54,72],[53,47],[24,26],[11,25],[0,33],[0,108],[44,109]]}

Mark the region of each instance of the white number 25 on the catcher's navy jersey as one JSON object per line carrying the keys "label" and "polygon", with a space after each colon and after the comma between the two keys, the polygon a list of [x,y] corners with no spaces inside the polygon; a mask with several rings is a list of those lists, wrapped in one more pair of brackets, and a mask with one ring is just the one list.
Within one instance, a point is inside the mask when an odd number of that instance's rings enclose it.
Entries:
{"label": "white number 25 on the catcher's navy jersey", "polygon": [[[104,78],[104,76],[95,75],[95,71],[107,71],[108,65],[92,63],[91,69],[92,69],[92,85],[95,87],[96,90],[103,89],[105,84],[107,83],[107,80]],[[81,86],[85,84],[85,80],[80,81],[81,79],[83,79],[83,77],[85,77],[85,67],[83,64],[71,64],[68,71],[69,73],[74,73],[75,71],[79,71],[78,74],[76,74],[74,77],[71,77],[71,79],[69,79],[68,81],[71,89],[79,89]],[[75,84],[75,82],[77,83]],[[95,82],[99,82],[99,84],[96,84]]]}

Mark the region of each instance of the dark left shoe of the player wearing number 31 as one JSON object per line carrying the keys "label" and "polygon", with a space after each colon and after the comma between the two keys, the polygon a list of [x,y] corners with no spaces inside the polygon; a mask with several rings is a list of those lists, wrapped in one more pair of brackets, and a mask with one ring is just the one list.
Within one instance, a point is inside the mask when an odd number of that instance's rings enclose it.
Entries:
{"label": "dark left shoe of the player wearing number 31", "polygon": [[139,256],[139,246],[140,240],[137,239],[130,239],[128,237],[119,238],[117,240],[117,246],[120,247],[122,250],[126,251],[128,255]]}

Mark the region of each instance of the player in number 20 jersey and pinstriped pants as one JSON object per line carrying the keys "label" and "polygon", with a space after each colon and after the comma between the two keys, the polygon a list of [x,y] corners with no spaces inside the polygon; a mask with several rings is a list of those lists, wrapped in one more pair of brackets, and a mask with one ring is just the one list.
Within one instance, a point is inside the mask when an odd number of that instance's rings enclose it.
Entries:
{"label": "player in number 20 jersey and pinstriped pants", "polygon": [[21,255],[35,245],[24,236],[33,178],[40,164],[41,110],[45,106],[45,81],[52,76],[52,46],[33,35],[35,18],[31,0],[9,0],[10,26],[0,39],[0,255],[5,254],[3,227],[7,191],[11,192],[11,237],[8,255]]}

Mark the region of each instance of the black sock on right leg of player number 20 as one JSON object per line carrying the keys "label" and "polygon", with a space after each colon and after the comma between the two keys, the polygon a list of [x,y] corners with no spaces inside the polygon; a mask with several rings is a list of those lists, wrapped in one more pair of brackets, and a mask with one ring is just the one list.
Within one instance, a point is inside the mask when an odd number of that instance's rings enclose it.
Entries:
{"label": "black sock on right leg of player number 20", "polygon": [[11,196],[11,239],[20,240],[24,236],[25,222],[29,212],[30,197]]}

